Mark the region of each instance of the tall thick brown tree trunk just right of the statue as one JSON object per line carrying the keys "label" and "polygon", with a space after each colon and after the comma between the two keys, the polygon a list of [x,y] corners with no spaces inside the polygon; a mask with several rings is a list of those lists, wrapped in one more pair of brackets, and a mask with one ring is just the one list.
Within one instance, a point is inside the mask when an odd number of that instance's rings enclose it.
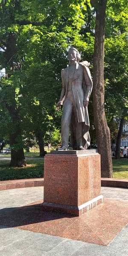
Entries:
{"label": "tall thick brown tree trunk just right of the statue", "polygon": [[[93,0],[91,1],[92,4]],[[94,0],[96,3],[97,1]],[[94,3],[94,6],[95,6]],[[101,154],[101,177],[112,177],[111,139],[104,108],[104,40],[107,0],[96,3],[95,47],[93,58],[93,106],[98,153]]]}

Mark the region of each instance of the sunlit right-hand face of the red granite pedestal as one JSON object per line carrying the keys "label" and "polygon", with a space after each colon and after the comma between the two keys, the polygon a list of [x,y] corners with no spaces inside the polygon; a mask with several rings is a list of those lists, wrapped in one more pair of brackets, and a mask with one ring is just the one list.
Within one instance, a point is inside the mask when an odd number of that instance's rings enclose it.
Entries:
{"label": "sunlit right-hand face of the red granite pedestal", "polygon": [[100,155],[78,158],[78,205],[101,195]]}

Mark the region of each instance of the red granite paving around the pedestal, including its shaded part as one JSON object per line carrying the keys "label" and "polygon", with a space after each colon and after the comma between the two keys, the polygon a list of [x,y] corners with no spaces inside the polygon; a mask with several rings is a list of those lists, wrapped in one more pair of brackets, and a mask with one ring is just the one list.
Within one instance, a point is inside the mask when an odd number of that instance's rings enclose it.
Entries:
{"label": "red granite paving around the pedestal, including its shaded part", "polygon": [[104,204],[79,217],[41,211],[42,201],[0,210],[0,225],[107,246],[128,224],[128,201],[104,199]]}

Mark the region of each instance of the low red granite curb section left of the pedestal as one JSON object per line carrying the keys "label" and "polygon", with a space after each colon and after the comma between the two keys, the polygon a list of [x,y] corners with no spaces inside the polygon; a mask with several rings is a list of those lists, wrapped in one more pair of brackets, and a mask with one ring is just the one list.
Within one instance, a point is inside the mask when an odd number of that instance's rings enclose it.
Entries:
{"label": "low red granite curb section left of the pedestal", "polygon": [[44,186],[44,178],[0,181],[0,191],[34,186]]}

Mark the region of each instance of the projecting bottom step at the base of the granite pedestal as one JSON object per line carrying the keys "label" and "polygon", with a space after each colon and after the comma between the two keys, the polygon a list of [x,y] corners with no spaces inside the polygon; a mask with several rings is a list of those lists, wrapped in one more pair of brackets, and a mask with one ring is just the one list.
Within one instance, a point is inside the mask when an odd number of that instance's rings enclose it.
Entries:
{"label": "projecting bottom step at the base of the granite pedestal", "polygon": [[96,198],[86,202],[85,204],[81,204],[80,206],[71,206],[64,204],[54,204],[44,202],[41,205],[41,209],[46,212],[57,212],[57,213],[66,213],[70,215],[80,216],[83,213],[93,209],[99,204],[103,203],[103,195],[99,195]]}

